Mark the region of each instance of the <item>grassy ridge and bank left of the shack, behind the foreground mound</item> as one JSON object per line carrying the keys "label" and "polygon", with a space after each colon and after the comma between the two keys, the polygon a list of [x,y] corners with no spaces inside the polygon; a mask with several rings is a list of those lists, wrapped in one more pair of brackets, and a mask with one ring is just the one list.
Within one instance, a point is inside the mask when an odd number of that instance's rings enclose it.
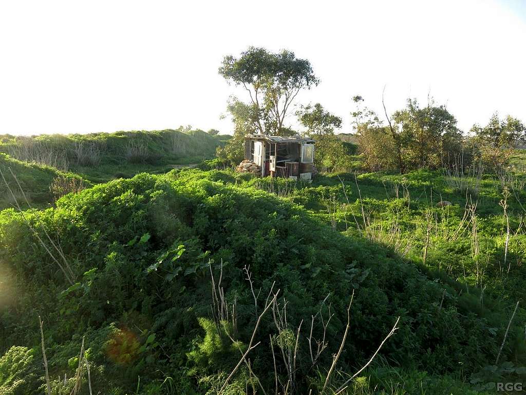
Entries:
{"label": "grassy ridge and bank left of the shack, behind the foreground mound", "polygon": [[[166,173],[176,165],[200,163],[213,157],[216,147],[229,136],[211,136],[203,131],[165,130],[154,132],[116,132],[87,135],[0,136],[0,170],[4,171],[19,204],[26,208],[22,192],[16,187],[9,167],[28,197],[29,203],[43,208],[53,203],[49,187],[59,176],[82,178],[86,186],[141,172]],[[78,147],[95,157],[89,163],[79,159]],[[88,150],[93,147],[93,154]],[[130,150],[139,154],[130,156]],[[11,154],[9,156],[8,154]],[[90,155],[91,154],[91,155]],[[61,170],[59,170],[61,169]],[[67,171],[66,171],[67,169]],[[11,193],[0,187],[0,210],[14,203]]]}

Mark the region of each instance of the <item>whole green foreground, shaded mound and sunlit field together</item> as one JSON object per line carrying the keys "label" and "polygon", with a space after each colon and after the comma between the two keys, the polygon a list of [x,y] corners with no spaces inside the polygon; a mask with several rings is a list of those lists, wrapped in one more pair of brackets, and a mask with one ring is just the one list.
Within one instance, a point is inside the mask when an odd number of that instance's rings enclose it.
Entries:
{"label": "whole green foreground, shaded mound and sunlit field together", "polygon": [[[41,315],[54,393],[73,388],[73,379],[61,383],[74,377],[83,338],[95,392],[217,393],[278,290],[250,364],[241,363],[225,393],[274,393],[274,363],[279,388],[289,382],[291,393],[322,392],[353,291],[349,333],[326,393],[371,357],[397,317],[399,329],[375,363],[341,393],[465,394],[491,388],[497,377],[520,381],[522,308],[491,367],[523,298],[520,208],[510,209],[507,272],[499,269],[498,185],[488,178],[479,186],[477,254],[473,226],[462,222],[465,197],[449,181],[420,171],[301,185],[174,170],[96,185],[45,211],[5,210],[0,383],[11,377],[21,380],[12,384],[21,393],[42,391]],[[453,204],[437,208],[446,198]],[[314,355],[323,350],[319,358],[311,358],[309,339]]]}

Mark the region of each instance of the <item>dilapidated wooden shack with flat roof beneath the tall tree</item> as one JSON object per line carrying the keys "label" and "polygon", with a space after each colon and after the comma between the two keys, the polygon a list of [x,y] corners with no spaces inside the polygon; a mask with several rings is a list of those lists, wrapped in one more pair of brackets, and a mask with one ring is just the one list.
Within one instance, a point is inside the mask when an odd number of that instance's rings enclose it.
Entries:
{"label": "dilapidated wooden shack with flat roof beneath the tall tree", "polygon": [[[245,136],[245,161],[240,167],[261,177],[287,177],[311,180],[314,170],[314,144],[309,137]],[[247,166],[248,165],[248,166]],[[257,166],[257,168],[256,168]]]}

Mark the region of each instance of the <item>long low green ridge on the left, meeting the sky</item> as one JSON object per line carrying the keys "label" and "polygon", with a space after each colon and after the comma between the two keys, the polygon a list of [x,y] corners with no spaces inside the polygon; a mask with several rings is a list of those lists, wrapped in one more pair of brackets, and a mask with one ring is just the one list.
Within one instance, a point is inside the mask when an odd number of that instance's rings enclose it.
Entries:
{"label": "long low green ridge on the left, meeting the sky", "polygon": [[166,172],[178,164],[214,157],[229,136],[200,130],[132,131],[98,134],[0,136],[0,152],[29,163],[70,170],[92,182]]}

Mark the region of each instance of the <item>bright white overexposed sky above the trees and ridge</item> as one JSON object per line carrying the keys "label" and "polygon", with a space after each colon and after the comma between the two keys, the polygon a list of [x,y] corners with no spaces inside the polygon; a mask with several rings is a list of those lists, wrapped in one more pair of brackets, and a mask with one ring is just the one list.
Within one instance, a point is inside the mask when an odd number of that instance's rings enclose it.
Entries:
{"label": "bright white overexposed sky above the trees and ridge", "polygon": [[[526,1],[2,1],[0,134],[154,130],[220,120],[221,59],[249,45],[308,58],[298,96],[343,117],[351,96],[394,111],[428,91],[469,130],[526,121]],[[292,122],[292,120],[290,121]]]}

